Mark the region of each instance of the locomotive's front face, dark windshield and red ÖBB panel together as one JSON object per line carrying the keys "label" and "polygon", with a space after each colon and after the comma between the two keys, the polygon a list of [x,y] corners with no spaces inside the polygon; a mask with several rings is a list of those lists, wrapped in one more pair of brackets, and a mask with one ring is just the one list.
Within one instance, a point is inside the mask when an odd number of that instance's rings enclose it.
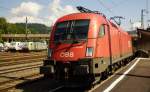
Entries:
{"label": "locomotive's front face, dark windshield and red \u00d6BB panel together", "polygon": [[[80,17],[78,15],[78,17]],[[78,61],[85,58],[89,19],[60,19],[53,30],[52,58],[56,61]]]}

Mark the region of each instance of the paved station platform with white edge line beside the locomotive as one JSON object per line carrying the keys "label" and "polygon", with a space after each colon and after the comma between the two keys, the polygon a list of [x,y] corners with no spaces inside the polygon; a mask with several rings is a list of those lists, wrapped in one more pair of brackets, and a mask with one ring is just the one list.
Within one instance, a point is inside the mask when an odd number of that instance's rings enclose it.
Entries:
{"label": "paved station platform with white edge line beside the locomotive", "polygon": [[89,92],[150,92],[150,58],[136,58]]}

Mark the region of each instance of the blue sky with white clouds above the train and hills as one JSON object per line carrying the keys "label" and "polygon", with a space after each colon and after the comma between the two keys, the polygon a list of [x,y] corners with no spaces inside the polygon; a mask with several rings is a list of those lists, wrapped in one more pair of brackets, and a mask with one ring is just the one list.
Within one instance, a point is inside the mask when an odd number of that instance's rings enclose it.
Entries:
{"label": "blue sky with white clouds above the train and hills", "polygon": [[[64,15],[79,12],[76,6],[100,11],[109,19],[122,16],[121,27],[131,30],[140,25],[141,9],[150,10],[149,0],[0,0],[0,17],[5,17],[10,23],[42,23],[51,26]],[[145,26],[149,15],[144,12]]]}

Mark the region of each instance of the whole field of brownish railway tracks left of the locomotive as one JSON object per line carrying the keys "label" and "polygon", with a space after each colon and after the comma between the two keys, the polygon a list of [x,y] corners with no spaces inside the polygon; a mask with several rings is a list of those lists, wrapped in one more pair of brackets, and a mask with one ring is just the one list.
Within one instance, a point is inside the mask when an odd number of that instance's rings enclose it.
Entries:
{"label": "whole field of brownish railway tracks left of the locomotive", "polygon": [[46,54],[5,54],[0,56],[0,92],[6,92],[20,83],[34,81],[43,76],[39,73],[39,67],[42,66]]}

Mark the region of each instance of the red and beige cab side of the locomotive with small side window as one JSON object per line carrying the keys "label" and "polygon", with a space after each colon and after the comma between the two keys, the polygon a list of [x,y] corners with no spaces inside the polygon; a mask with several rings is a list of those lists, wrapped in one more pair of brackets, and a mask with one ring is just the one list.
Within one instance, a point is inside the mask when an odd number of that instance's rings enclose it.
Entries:
{"label": "red and beige cab side of the locomotive with small side window", "polygon": [[[107,41],[107,25],[102,24],[98,30],[98,36],[96,39],[96,57],[98,57],[98,70],[103,72],[108,66],[107,54],[109,52]],[[96,69],[97,70],[97,69]]]}

